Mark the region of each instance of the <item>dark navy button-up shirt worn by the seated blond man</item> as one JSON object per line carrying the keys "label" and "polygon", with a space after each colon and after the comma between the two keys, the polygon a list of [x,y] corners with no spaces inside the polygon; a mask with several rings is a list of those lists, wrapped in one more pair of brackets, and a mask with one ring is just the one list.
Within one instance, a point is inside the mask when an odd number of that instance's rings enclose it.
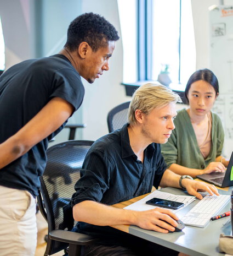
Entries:
{"label": "dark navy button-up shirt worn by the seated blond man", "polygon": [[[152,143],[141,162],[134,154],[128,135],[128,124],[96,140],[87,153],[81,178],[75,185],[72,206],[84,200],[112,205],[151,192],[159,186],[167,166],[160,144]],[[103,233],[104,227],[79,222],[79,232]],[[93,231],[93,232],[92,232]]]}

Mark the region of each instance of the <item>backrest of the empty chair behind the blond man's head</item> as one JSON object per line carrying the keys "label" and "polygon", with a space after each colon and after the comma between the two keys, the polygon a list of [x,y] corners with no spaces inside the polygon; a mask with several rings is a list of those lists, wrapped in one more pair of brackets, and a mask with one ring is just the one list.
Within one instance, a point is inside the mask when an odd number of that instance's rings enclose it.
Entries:
{"label": "backrest of the empty chair behind the blond man's head", "polygon": [[107,115],[107,127],[109,132],[113,130],[120,129],[122,126],[128,122],[128,108],[130,101],[124,102],[109,111]]}

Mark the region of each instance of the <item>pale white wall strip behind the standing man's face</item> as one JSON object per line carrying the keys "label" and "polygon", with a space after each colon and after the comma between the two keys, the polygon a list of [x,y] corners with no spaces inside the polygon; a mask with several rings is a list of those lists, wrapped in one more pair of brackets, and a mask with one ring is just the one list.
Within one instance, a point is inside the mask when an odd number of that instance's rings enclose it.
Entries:
{"label": "pale white wall strip behind the standing man's face", "polygon": [[[94,12],[103,15],[120,32],[117,0],[83,0],[82,12]],[[121,32],[120,32],[121,36]],[[83,122],[87,127],[83,129],[83,139],[95,140],[108,133],[107,113],[118,104],[129,101],[123,85],[123,49],[121,39],[117,41],[113,56],[110,58],[110,70],[104,72],[101,78],[93,84],[84,81],[86,95],[82,110]]]}

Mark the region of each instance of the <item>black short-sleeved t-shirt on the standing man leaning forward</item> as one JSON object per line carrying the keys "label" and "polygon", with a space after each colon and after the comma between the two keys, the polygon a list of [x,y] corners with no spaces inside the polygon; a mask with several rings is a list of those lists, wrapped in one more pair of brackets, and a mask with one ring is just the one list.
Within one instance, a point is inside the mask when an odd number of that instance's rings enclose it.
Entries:
{"label": "black short-sleeved t-shirt on the standing man leaning forward", "polygon": [[[4,72],[0,77],[0,143],[25,126],[53,97],[70,102],[75,110],[83,101],[81,77],[64,55],[29,59]],[[2,168],[0,185],[28,190],[36,196],[40,186],[38,177],[46,166],[48,140],[58,134],[65,123]]]}

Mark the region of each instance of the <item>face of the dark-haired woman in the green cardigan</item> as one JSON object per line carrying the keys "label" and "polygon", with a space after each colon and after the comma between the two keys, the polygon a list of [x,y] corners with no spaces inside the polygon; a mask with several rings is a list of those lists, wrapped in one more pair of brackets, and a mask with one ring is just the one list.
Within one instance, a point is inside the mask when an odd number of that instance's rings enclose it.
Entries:
{"label": "face of the dark-haired woman in the green cardigan", "polygon": [[187,94],[190,110],[197,116],[206,115],[213,107],[217,96],[211,84],[203,80],[195,81]]}

